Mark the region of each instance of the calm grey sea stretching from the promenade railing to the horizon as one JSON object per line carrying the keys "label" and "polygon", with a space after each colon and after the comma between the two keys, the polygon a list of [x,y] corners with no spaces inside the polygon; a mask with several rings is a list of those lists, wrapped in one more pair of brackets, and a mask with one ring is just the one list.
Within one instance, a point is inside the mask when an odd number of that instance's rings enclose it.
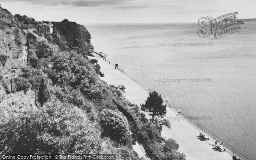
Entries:
{"label": "calm grey sea stretching from the promenade railing to the horizon", "polygon": [[[256,23],[245,23],[243,32],[219,39],[200,38],[197,23],[85,26],[96,52],[108,54],[135,79],[166,95],[189,116],[202,118],[198,122],[205,128],[256,159]],[[163,82],[167,79],[185,82]]]}

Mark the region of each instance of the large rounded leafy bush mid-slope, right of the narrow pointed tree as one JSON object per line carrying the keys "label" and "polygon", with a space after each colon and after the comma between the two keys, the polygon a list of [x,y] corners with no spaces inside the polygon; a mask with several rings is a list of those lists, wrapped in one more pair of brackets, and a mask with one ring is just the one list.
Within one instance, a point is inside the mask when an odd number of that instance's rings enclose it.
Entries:
{"label": "large rounded leafy bush mid-slope, right of the narrow pointed tree", "polygon": [[51,60],[61,84],[79,88],[88,99],[102,99],[102,82],[86,58],[76,52],[57,52]]}

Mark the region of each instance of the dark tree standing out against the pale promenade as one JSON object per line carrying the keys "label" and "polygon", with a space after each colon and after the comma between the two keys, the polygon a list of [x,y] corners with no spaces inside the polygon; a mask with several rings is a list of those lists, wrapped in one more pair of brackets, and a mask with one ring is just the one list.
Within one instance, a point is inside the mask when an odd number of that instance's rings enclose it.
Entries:
{"label": "dark tree standing out against the pale promenade", "polygon": [[166,105],[163,105],[163,99],[156,91],[149,93],[145,105],[141,104],[140,106],[142,111],[151,112],[149,114],[152,116],[151,122],[155,120],[155,116],[163,118],[166,115]]}

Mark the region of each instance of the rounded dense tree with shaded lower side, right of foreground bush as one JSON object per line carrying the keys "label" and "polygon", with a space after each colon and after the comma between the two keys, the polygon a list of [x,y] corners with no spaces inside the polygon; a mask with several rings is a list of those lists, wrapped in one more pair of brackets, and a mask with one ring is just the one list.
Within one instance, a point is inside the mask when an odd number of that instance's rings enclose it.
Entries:
{"label": "rounded dense tree with shaded lower side, right of foreground bush", "polygon": [[116,110],[104,109],[100,116],[103,128],[102,136],[127,144],[130,140],[128,121],[125,116]]}

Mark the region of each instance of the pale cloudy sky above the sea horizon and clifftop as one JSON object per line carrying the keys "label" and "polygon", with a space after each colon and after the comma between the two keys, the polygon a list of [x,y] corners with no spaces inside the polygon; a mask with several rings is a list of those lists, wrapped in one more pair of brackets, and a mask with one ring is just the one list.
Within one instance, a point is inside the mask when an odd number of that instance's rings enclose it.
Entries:
{"label": "pale cloudy sky above the sea horizon and clifftop", "polygon": [[0,0],[13,15],[37,21],[90,23],[198,22],[239,12],[238,18],[256,18],[256,0]]}

